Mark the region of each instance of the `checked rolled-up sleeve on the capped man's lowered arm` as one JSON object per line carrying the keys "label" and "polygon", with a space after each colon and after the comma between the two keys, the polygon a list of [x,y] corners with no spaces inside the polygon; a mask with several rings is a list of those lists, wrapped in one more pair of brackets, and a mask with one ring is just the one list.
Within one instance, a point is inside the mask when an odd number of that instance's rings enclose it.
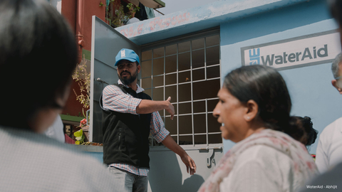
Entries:
{"label": "checked rolled-up sleeve on the capped man's lowered arm", "polygon": [[162,122],[162,117],[160,117],[159,112],[152,112],[150,132],[158,143],[164,141],[165,137],[170,134],[170,132],[165,129],[164,122]]}

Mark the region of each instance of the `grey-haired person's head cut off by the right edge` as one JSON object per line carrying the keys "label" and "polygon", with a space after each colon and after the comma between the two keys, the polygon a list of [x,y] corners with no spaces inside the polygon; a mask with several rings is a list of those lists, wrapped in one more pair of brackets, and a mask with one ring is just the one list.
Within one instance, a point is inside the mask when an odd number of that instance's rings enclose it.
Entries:
{"label": "grey-haired person's head cut off by the right edge", "polygon": [[342,53],[338,54],[331,64],[331,71],[333,72],[333,80],[331,84],[342,94]]}

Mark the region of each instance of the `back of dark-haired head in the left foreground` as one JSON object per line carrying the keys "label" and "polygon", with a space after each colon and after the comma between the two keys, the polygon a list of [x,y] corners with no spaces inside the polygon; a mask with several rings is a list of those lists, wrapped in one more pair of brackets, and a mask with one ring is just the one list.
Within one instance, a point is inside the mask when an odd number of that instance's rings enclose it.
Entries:
{"label": "back of dark-haired head in the left foreground", "polygon": [[45,0],[2,0],[0,18],[0,125],[43,132],[68,99],[75,38]]}

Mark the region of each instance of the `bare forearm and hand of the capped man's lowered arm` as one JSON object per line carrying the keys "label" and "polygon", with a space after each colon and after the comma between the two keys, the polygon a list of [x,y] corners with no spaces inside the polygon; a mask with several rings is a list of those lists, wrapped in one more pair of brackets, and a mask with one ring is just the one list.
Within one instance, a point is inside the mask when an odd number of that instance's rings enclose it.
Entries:
{"label": "bare forearm and hand of the capped man's lowered arm", "polygon": [[167,137],[165,137],[165,139],[162,141],[162,144],[164,144],[168,149],[170,149],[171,151],[174,151],[176,154],[180,156],[180,159],[182,159],[185,166],[187,166],[188,174],[189,174],[189,171],[190,171],[190,175],[193,175],[196,173],[195,161],[191,159],[191,157],[187,154],[187,152],[185,152],[185,150],[182,147],[180,147],[175,142],[175,140],[172,139],[170,134],[167,135]]}

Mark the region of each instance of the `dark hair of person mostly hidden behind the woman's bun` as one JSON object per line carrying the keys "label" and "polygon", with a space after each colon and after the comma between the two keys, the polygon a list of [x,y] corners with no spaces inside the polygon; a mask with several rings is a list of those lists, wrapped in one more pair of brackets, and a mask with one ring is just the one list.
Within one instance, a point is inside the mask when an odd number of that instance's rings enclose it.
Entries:
{"label": "dark hair of person mostly hidden behind the woman's bun", "polygon": [[307,148],[311,146],[311,144],[314,144],[314,142],[317,139],[318,131],[314,129],[314,124],[311,122],[311,118],[294,116],[292,120],[292,124],[297,124],[299,127],[301,127],[301,129],[304,129],[306,132],[304,139],[302,139],[301,141],[302,144],[304,144]]}

